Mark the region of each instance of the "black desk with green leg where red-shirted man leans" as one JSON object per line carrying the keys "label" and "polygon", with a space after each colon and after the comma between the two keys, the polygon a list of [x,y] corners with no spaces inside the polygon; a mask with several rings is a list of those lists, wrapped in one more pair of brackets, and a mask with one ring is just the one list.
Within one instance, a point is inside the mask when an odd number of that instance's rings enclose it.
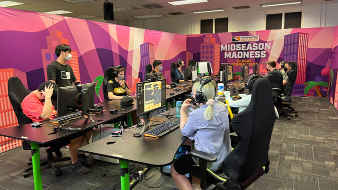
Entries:
{"label": "black desk with green leg where red-shirted man leans", "polygon": [[[100,105],[100,104],[99,104]],[[103,106],[103,105],[102,105]],[[103,108],[107,110],[107,112],[101,113],[101,115],[92,115],[93,120],[102,120],[99,122],[92,123],[89,120],[74,120],[70,123],[67,123],[64,127],[71,128],[81,128],[82,130],[89,130],[94,128],[95,126],[107,122],[109,120],[116,119],[118,117],[122,117],[122,114],[109,114],[109,108],[113,107],[112,105],[104,105]],[[136,109],[136,106],[134,106]],[[133,106],[125,106],[123,107],[124,114],[129,113],[134,108]],[[5,136],[13,139],[18,139],[22,141],[27,141],[30,143],[31,150],[34,152],[32,154],[32,166],[33,166],[33,179],[34,179],[34,189],[42,190],[42,182],[41,182],[41,166],[40,166],[40,154],[39,154],[39,145],[48,145],[49,143],[61,141],[71,135],[75,135],[79,133],[78,131],[70,131],[70,130],[56,130],[53,128],[57,127],[58,124],[53,125],[49,123],[49,121],[41,121],[42,127],[30,127],[30,124],[19,125],[16,127],[9,127],[0,129],[0,136]],[[43,127],[45,126],[45,127]]]}

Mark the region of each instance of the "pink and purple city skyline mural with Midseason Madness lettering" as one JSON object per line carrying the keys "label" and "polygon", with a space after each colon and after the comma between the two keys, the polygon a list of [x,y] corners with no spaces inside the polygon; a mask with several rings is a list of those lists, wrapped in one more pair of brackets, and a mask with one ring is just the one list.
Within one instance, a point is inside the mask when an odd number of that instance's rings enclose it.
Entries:
{"label": "pink and purple city skyline mural with Midseason Madness lettering", "polygon": [[[46,67],[56,59],[58,44],[70,45],[72,59],[67,64],[78,81],[96,79],[100,86],[105,69],[121,65],[133,94],[153,60],[163,62],[168,84],[171,62],[178,59],[185,65],[191,59],[205,59],[214,74],[220,63],[234,65],[235,72],[244,63],[251,65],[250,72],[253,63],[261,63],[264,73],[267,60],[294,60],[298,77],[293,95],[327,96],[337,106],[337,27],[181,35],[2,7],[0,17],[0,128],[17,125],[7,95],[8,78],[17,76],[35,90],[46,80]],[[102,101],[100,89],[95,103]],[[0,137],[0,153],[20,145]]]}

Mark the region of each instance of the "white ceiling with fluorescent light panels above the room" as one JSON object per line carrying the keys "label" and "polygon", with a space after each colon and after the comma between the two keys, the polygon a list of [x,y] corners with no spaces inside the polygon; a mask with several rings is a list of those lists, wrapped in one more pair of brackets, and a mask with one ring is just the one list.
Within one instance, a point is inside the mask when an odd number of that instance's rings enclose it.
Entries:
{"label": "white ceiling with fluorescent light panels above the room", "polygon": [[[3,0],[0,0],[3,1]],[[11,0],[16,2],[22,2],[25,4],[11,6],[9,8],[29,10],[35,12],[46,12],[53,10],[67,10],[73,13],[62,14],[64,16],[79,16],[79,15],[92,15],[95,17],[87,18],[89,20],[102,21],[103,20],[103,2],[104,0],[93,0],[87,2],[79,3],[70,3],[62,0]],[[195,3],[195,4],[185,4],[185,5],[171,5],[167,2],[174,0],[108,0],[109,2],[114,3],[114,8],[125,7],[125,6],[134,6],[140,9],[137,10],[128,10],[128,11],[119,11],[114,12],[115,20],[138,20],[142,18],[136,18],[134,16],[139,15],[149,15],[149,14],[161,14],[163,17],[175,17],[174,15],[168,14],[170,12],[183,12],[183,15],[196,15],[195,13],[190,12],[191,10],[200,10],[200,9],[212,9],[212,8],[223,8],[225,11],[221,12],[233,12],[233,11],[243,11],[243,10],[256,10],[256,9],[270,9],[270,8],[287,8],[294,6],[304,6],[309,4],[321,4],[321,3],[330,3],[338,2],[338,0],[302,0],[301,4],[292,4],[292,5],[282,5],[282,6],[271,6],[262,8],[259,4],[261,3],[271,3],[271,2],[282,2],[290,0],[209,0],[209,2]],[[158,4],[163,7],[161,8],[145,8],[142,5],[146,4]],[[233,6],[245,6],[248,5],[251,8],[235,10]],[[219,13],[221,13],[219,12]],[[208,14],[208,13],[198,13],[198,14]]]}

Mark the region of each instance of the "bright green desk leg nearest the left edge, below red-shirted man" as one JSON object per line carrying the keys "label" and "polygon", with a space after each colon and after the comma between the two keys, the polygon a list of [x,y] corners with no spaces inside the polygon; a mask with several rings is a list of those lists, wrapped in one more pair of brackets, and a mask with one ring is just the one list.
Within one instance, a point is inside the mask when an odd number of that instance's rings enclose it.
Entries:
{"label": "bright green desk leg nearest the left edge, below red-shirted man", "polygon": [[34,155],[31,156],[31,161],[33,164],[34,190],[42,190],[39,146],[37,143],[30,143],[30,147],[31,150],[34,150]]}

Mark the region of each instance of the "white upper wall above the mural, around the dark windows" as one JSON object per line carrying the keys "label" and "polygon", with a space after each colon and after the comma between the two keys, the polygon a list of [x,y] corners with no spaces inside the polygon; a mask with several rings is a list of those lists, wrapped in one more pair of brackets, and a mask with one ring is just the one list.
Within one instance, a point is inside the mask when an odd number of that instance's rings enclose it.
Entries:
{"label": "white upper wall above the mural, around the dark windows", "polygon": [[[215,12],[171,18],[130,20],[129,26],[180,34],[199,34],[200,20],[228,17],[228,31],[256,31],[265,29],[266,14],[302,12],[301,27],[330,27],[338,25],[338,3],[303,5],[235,12]],[[282,23],[284,20],[282,20]],[[283,24],[282,24],[283,25]]]}

